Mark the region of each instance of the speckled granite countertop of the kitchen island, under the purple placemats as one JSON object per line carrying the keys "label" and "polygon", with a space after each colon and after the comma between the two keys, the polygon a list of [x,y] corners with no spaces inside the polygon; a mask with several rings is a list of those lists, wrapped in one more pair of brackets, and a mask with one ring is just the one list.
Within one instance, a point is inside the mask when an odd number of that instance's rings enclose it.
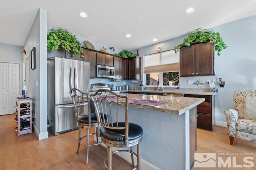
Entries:
{"label": "speckled granite countertop of the kitchen island, under the purple placemats", "polygon": [[128,100],[132,99],[146,99],[146,100],[157,100],[164,101],[162,105],[157,106],[145,106],[128,103],[129,107],[138,109],[147,109],[151,111],[170,113],[174,115],[182,115],[186,111],[196,107],[200,103],[204,102],[204,98],[192,98],[192,97],[172,97],[172,96],[158,96],[158,95],[139,95],[139,94],[127,94],[121,93],[120,95],[127,95]]}

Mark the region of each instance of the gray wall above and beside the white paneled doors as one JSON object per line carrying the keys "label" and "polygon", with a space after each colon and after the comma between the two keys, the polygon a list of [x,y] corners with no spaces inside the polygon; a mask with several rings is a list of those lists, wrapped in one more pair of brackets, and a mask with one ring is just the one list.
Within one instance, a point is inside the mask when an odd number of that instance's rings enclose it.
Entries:
{"label": "gray wall above and beside the white paneled doors", "polygon": [[22,89],[22,61],[22,47],[0,43],[0,62],[20,64],[20,89]]}

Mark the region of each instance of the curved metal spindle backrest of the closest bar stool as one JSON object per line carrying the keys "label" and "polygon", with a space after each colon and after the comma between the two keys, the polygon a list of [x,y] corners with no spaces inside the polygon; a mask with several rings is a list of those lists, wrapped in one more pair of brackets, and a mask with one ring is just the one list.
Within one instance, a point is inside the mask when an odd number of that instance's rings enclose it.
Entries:
{"label": "curved metal spindle backrest of the closest bar stool", "polygon": [[[127,96],[118,95],[107,89],[99,89],[90,96],[98,116],[98,123],[105,128],[125,129],[125,141],[127,141],[129,131]],[[122,113],[125,114],[125,120],[118,117]],[[120,125],[121,122],[122,124],[125,122],[125,127]]]}

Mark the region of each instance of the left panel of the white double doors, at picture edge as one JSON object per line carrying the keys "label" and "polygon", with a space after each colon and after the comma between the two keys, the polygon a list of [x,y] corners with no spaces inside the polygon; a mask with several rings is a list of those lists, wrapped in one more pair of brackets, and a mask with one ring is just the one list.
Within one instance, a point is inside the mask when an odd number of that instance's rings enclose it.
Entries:
{"label": "left panel of the white double doors, at picture edge", "polygon": [[9,63],[0,62],[0,115],[9,114]]}

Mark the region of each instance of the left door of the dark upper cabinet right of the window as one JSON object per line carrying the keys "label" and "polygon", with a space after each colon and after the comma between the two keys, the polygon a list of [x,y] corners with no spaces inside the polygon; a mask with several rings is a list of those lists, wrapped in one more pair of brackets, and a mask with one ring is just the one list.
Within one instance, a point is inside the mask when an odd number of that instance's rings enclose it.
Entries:
{"label": "left door of the dark upper cabinet right of the window", "polygon": [[180,77],[194,76],[194,46],[180,48]]}

